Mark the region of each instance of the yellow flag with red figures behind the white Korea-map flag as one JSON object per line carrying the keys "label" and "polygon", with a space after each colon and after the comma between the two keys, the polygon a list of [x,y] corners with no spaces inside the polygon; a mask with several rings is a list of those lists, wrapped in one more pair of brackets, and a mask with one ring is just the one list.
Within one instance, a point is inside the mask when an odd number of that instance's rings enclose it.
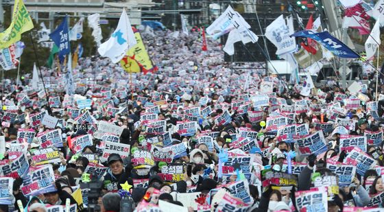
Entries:
{"label": "yellow flag with red figures behind the white Korea-map flag", "polygon": [[121,67],[128,73],[138,73],[143,71],[143,73],[146,74],[148,71],[155,71],[156,67],[152,64],[147,50],[145,50],[139,30],[136,30],[135,28],[132,30],[134,32],[134,38],[136,38],[136,45],[130,47],[127,54],[125,54],[125,57],[120,60]]}

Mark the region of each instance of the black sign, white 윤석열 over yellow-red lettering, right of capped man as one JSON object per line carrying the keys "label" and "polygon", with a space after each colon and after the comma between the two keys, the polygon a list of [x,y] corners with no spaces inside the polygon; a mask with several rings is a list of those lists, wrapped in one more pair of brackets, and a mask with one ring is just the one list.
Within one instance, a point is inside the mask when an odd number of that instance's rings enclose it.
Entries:
{"label": "black sign, white \uc724\uc11d\uc5f4 over yellow-red lettering, right of capped man", "polygon": [[182,180],[184,172],[187,170],[187,165],[182,163],[169,163],[161,167],[158,176],[167,182],[178,182]]}

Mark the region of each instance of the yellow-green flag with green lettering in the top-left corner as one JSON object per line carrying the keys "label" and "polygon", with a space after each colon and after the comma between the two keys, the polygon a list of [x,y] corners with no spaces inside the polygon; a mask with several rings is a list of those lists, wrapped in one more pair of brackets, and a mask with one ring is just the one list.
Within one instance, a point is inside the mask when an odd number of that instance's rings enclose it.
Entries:
{"label": "yellow-green flag with green lettering in the top-left corner", "polygon": [[21,34],[32,30],[34,23],[28,14],[23,0],[15,0],[12,14],[12,23],[7,30],[0,33],[0,49],[4,49],[21,39]]}

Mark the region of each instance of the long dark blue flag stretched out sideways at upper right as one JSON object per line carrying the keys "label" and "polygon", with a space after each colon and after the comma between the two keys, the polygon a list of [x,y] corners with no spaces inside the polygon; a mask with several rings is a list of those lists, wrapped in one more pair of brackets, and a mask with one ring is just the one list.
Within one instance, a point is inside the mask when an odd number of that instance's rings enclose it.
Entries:
{"label": "long dark blue flag stretched out sideways at upper right", "polygon": [[335,54],[335,56],[339,56],[340,58],[360,58],[359,54],[357,54],[355,51],[350,49],[347,45],[342,43],[328,32],[315,33],[310,30],[302,30],[292,34],[291,36],[311,38],[316,40],[326,49]]}

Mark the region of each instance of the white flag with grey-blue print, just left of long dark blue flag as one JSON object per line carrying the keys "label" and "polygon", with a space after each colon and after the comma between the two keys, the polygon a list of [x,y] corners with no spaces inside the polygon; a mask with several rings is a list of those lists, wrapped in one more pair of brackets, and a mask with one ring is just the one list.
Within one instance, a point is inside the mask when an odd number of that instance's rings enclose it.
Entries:
{"label": "white flag with grey-blue print, just left of long dark blue flag", "polygon": [[276,55],[296,51],[296,40],[290,35],[291,32],[285,24],[283,15],[280,15],[265,29],[265,37],[277,47]]}

